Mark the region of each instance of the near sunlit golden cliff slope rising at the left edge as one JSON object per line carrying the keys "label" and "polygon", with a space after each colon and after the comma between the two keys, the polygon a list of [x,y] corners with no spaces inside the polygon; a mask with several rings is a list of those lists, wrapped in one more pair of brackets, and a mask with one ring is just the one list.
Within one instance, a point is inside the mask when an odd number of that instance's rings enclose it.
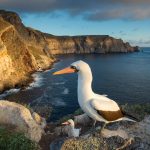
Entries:
{"label": "near sunlit golden cliff slope rising at the left edge", "polygon": [[25,28],[19,16],[0,11],[0,91],[25,84],[29,74],[47,68],[53,58],[43,35]]}

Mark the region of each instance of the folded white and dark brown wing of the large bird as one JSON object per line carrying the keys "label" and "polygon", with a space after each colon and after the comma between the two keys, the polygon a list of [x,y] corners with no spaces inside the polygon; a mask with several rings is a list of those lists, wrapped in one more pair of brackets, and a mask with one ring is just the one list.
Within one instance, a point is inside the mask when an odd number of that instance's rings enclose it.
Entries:
{"label": "folded white and dark brown wing of the large bird", "polygon": [[113,100],[105,101],[100,99],[92,99],[90,104],[99,115],[108,121],[117,120],[123,117],[118,104]]}

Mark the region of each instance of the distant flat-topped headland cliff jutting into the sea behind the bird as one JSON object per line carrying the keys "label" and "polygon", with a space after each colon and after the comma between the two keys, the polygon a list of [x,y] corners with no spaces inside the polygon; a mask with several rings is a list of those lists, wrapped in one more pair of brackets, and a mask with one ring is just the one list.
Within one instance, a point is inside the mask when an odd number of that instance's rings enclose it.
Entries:
{"label": "distant flat-topped headland cliff jutting into the sea behind the bird", "polygon": [[137,47],[132,47],[129,43],[108,35],[47,36],[46,40],[51,54],[126,53],[138,50]]}

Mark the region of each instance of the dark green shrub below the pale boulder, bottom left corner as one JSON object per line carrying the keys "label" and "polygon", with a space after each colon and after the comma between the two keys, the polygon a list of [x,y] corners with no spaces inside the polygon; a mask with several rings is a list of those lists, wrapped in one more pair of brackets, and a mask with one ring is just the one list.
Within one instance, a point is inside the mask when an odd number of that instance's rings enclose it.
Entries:
{"label": "dark green shrub below the pale boulder, bottom left corner", "polygon": [[0,150],[40,150],[40,147],[24,134],[0,127]]}

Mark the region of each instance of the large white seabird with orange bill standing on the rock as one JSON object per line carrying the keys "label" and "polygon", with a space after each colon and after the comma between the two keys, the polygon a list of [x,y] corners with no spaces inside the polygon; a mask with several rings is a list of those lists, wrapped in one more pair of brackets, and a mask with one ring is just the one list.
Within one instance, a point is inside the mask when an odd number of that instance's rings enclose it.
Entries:
{"label": "large white seabird with orange bill standing on the rock", "polygon": [[96,121],[107,123],[121,120],[136,122],[136,118],[125,114],[119,105],[106,95],[96,94],[92,90],[92,71],[90,66],[82,60],[72,63],[69,67],[53,73],[53,75],[65,73],[78,73],[78,102],[81,109]]}

